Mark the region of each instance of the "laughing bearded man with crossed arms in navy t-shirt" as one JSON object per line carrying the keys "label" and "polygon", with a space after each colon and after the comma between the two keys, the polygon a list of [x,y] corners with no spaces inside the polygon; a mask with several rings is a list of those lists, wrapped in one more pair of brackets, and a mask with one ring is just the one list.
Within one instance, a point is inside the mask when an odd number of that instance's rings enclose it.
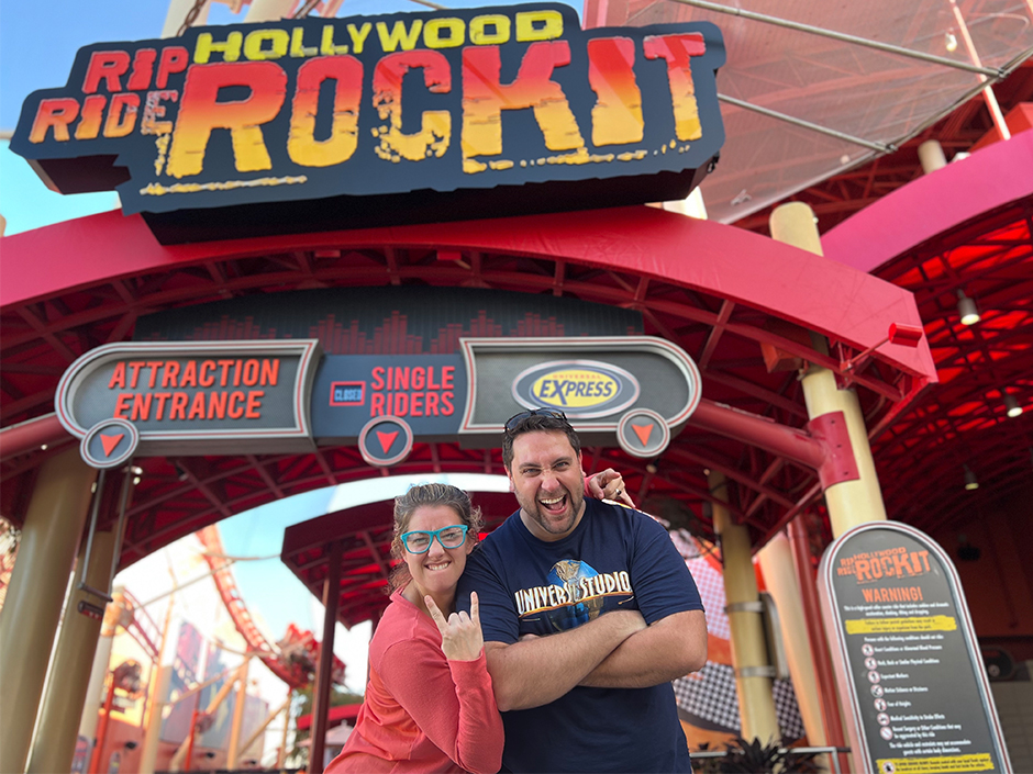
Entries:
{"label": "laughing bearded man with crossed arms in navy t-shirt", "polygon": [[512,417],[502,460],[520,509],[473,552],[458,598],[480,597],[503,771],[691,771],[670,681],[703,665],[707,628],[666,530],[585,500],[562,412]]}

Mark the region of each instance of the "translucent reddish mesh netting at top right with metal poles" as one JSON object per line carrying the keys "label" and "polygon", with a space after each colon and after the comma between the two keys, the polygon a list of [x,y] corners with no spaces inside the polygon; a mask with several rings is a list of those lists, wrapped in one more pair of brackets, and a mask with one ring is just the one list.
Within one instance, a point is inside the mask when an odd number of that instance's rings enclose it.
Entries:
{"label": "translucent reddish mesh netting at top right with metal poles", "polygon": [[[757,21],[751,13],[798,26]],[[586,0],[584,15],[589,26],[709,21],[722,29],[729,58],[718,94],[726,141],[721,162],[701,186],[710,217],[722,223],[892,154],[1033,53],[1033,7],[1009,0]],[[980,66],[987,75],[956,66]],[[867,204],[875,197],[868,190],[864,198]],[[840,203],[842,191],[832,188],[819,201]]]}

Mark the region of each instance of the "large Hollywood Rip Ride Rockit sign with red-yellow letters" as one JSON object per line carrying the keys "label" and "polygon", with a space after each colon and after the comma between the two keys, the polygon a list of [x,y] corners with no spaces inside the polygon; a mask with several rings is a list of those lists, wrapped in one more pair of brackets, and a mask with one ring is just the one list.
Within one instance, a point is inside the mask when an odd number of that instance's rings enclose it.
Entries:
{"label": "large Hollywood Rip Ride Rockit sign with red-yellow letters", "polygon": [[164,240],[659,201],[724,141],[723,63],[712,24],[555,3],[199,27],[84,47],[11,148]]}

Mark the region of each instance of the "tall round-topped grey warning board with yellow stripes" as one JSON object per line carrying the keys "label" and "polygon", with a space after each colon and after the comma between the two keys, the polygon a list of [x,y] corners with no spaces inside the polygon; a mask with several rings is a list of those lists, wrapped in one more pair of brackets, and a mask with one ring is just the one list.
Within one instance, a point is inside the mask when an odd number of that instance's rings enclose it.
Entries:
{"label": "tall round-topped grey warning board with yellow stripes", "polygon": [[819,583],[859,771],[1010,772],[968,605],[929,536],[876,521],[840,537]]}

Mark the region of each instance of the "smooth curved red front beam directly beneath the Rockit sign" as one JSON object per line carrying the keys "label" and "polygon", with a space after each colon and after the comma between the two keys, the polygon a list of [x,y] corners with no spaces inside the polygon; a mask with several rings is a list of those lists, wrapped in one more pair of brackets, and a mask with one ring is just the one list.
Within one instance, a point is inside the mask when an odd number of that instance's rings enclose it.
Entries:
{"label": "smooth curved red front beam directly beneath the Rockit sign", "polygon": [[[101,213],[5,237],[0,305],[231,257],[382,246],[508,253],[632,271],[762,310],[859,350],[884,339],[893,323],[922,324],[913,295],[889,282],[741,228],[645,206],[168,246],[137,215]],[[925,341],[879,354],[895,368],[936,381]]]}

